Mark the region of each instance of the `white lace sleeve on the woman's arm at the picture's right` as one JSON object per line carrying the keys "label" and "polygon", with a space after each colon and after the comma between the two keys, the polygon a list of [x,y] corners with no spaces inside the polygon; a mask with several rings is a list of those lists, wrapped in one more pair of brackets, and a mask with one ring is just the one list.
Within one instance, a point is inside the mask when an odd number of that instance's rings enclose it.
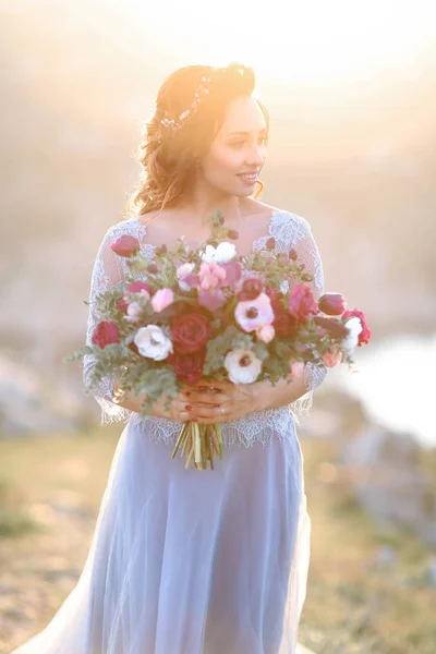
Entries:
{"label": "white lace sleeve on the woman's arm at the picture's right", "polygon": [[[318,301],[324,293],[324,270],[319,251],[315,239],[312,234],[312,229],[307,220],[295,214],[291,215],[291,242],[289,250],[293,247],[296,252],[300,262],[305,265],[305,272],[313,276],[313,281],[306,282],[310,287],[315,301]],[[288,250],[288,252],[289,252]],[[307,392],[299,400],[292,402],[290,408],[300,415],[307,415],[313,403],[314,389],[319,386],[327,375],[326,366],[318,367],[308,362],[304,367],[303,380]]]}

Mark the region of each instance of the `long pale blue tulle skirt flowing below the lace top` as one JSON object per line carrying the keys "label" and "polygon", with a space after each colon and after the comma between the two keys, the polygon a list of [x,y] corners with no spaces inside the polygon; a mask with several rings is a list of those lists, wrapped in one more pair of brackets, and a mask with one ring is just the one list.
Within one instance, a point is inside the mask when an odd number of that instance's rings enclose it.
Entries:
{"label": "long pale blue tulle skirt flowing below the lace top", "polygon": [[311,520],[287,436],[185,470],[129,422],[76,585],[11,654],[296,653]]}

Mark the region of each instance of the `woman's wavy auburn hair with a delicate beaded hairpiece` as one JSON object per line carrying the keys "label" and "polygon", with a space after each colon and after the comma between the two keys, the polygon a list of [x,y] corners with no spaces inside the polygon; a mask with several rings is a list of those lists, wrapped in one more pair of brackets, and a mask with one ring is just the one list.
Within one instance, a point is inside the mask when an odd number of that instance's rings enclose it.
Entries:
{"label": "woman's wavy auburn hair with a delicate beaded hairpiece", "polygon": [[[252,95],[254,87],[253,69],[239,63],[227,68],[190,65],[164,81],[140,145],[142,174],[129,202],[131,213],[161,210],[183,195],[225,121],[229,102]],[[268,129],[267,110],[257,98],[256,101]],[[264,187],[262,182],[257,184],[254,197]]]}

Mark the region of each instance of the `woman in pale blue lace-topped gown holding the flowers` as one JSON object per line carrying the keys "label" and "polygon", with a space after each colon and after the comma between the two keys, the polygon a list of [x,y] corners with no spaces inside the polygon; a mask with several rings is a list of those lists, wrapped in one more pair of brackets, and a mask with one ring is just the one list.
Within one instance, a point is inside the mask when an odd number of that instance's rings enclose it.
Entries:
{"label": "woman in pale blue lace-topped gown holding the flowers", "polygon": [[[312,272],[323,267],[306,220],[256,199],[268,116],[240,64],[193,65],[162,84],[141,147],[135,215],[106,233],[90,301],[123,279],[110,243],[134,234],[152,256],[184,235],[197,246],[221,210],[249,254],[274,235]],[[287,282],[283,282],[284,284]],[[90,304],[88,340],[98,322]],[[286,328],[286,326],[283,327]],[[95,364],[88,355],[84,380]],[[291,367],[283,380],[184,386],[146,417],[143,398],[118,402],[108,378],[96,399],[102,422],[128,421],[82,576],[46,629],[15,654],[291,654],[305,598],[311,522],[295,411],[307,410],[325,371]],[[117,403],[118,402],[118,403]],[[181,423],[222,423],[225,460],[214,471],[171,459]]]}

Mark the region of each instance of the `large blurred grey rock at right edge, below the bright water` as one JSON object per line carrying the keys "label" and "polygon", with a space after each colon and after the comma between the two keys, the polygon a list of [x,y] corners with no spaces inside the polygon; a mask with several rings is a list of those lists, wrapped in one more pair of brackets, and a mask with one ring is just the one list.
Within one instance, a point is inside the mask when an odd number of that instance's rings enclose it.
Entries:
{"label": "large blurred grey rock at right edge, below the bright water", "polygon": [[408,433],[373,425],[342,448],[360,502],[382,522],[412,529],[436,545],[436,488],[419,464],[420,445]]}

